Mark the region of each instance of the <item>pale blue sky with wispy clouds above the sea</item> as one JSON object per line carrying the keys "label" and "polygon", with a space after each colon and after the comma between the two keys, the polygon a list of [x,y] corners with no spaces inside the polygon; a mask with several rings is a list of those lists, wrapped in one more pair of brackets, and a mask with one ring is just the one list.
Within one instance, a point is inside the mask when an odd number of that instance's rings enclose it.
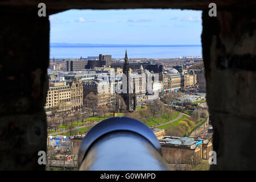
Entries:
{"label": "pale blue sky with wispy clouds above the sea", "polygon": [[68,10],[49,20],[51,43],[201,44],[201,11]]}

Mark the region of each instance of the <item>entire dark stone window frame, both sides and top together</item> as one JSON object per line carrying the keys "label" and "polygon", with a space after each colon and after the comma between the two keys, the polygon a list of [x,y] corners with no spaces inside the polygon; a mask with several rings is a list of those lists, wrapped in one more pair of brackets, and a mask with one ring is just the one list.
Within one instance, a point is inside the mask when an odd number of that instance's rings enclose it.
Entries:
{"label": "entire dark stone window frame, both sides and top together", "polygon": [[[214,128],[217,165],[211,169],[255,169],[255,1],[44,1],[47,15],[68,9],[174,8],[203,11],[203,56],[207,102]],[[48,16],[40,1],[0,2],[0,169],[44,169],[49,61]]]}

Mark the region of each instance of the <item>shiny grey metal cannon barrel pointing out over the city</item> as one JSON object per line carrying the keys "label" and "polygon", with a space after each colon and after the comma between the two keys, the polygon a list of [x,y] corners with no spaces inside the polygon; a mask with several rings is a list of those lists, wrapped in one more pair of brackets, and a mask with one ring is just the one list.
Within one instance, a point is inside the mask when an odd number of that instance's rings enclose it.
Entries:
{"label": "shiny grey metal cannon barrel pointing out over the city", "polygon": [[79,170],[169,170],[152,130],[137,119],[114,117],[94,126],[82,140]]}

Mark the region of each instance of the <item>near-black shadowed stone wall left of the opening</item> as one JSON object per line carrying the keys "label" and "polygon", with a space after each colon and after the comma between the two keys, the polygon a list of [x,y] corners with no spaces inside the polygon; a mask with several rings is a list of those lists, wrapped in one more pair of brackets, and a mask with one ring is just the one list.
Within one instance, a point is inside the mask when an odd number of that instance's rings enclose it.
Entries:
{"label": "near-black shadowed stone wall left of the opening", "polygon": [[44,169],[49,20],[0,10],[0,169]]}

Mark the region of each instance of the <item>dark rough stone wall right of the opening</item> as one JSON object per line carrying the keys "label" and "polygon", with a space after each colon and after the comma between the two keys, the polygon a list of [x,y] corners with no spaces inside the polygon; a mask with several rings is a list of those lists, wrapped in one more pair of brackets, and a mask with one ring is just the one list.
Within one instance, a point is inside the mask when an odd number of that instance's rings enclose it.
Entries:
{"label": "dark rough stone wall right of the opening", "polygon": [[203,12],[203,57],[207,104],[217,165],[210,169],[255,169],[256,13]]}

